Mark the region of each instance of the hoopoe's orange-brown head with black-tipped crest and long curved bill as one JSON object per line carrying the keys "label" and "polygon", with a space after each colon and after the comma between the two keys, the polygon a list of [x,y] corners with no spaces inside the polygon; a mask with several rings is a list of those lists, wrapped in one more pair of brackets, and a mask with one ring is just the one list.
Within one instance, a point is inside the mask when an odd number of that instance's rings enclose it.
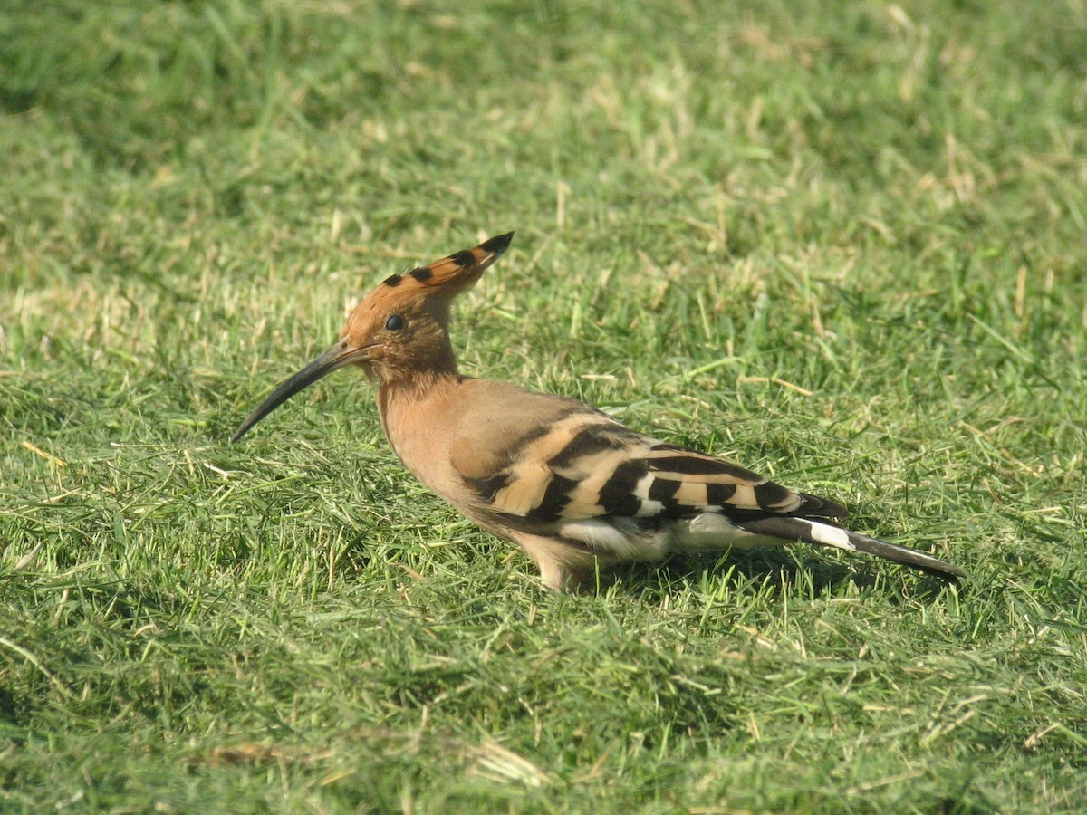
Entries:
{"label": "hoopoe's orange-brown head with black-tipped crest and long curved bill", "polygon": [[385,278],[347,318],[339,342],[284,380],[235,430],[240,439],[253,425],[298,391],[347,365],[360,365],[380,385],[426,374],[457,372],[449,343],[449,306],[472,288],[513,239],[513,233],[475,249]]}

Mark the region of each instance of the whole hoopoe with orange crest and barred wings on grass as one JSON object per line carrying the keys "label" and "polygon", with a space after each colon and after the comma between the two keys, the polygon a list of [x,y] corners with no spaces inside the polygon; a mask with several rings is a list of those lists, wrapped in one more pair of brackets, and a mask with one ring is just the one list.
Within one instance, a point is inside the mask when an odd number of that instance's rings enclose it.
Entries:
{"label": "whole hoopoe with orange crest and barred wings on grass", "polygon": [[343,367],[377,386],[397,456],[465,517],[518,544],[550,589],[577,591],[617,564],[673,552],[808,543],[954,581],[963,569],[846,528],[846,509],[721,457],[630,429],[585,402],[460,373],[453,300],[513,233],[386,277],[339,340],[285,379],[241,423],[237,442],[303,388]]}

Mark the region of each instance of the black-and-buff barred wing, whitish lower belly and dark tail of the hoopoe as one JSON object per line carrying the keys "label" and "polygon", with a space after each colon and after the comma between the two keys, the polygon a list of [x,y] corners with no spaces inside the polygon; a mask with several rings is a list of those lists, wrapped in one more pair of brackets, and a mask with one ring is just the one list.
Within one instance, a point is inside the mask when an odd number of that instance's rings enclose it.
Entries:
{"label": "black-and-buff barred wing, whitish lower belly and dark tail of the hoopoe", "polygon": [[[567,403],[569,405],[570,403]],[[652,559],[769,539],[866,552],[929,572],[959,569],[859,535],[845,507],[711,455],[630,430],[573,403],[509,446],[486,478],[466,479],[495,523],[558,536],[601,556]]]}

